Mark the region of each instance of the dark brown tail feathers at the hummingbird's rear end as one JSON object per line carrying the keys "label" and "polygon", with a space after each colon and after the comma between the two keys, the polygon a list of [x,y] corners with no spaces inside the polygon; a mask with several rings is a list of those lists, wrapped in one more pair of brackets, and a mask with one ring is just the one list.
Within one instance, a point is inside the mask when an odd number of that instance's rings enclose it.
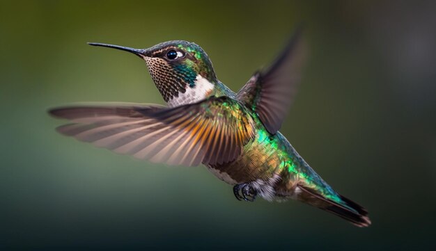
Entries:
{"label": "dark brown tail feathers at the hummingbird's rear end", "polygon": [[299,195],[300,200],[348,220],[357,227],[368,227],[371,225],[371,220],[368,218],[368,211],[356,202],[342,195],[339,195],[342,203],[334,202],[323,197],[312,188],[304,186],[298,187],[302,190],[302,193]]}

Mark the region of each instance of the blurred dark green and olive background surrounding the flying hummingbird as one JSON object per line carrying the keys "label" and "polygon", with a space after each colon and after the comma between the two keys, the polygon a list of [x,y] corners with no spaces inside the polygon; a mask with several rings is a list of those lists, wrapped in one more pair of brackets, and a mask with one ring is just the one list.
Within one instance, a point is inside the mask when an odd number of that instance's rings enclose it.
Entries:
{"label": "blurred dark green and olive background surrounding the flying hummingbird", "polygon": [[[435,1],[1,1],[0,249],[410,250],[435,247]],[[235,200],[203,167],[137,161],[54,131],[47,108],[163,104],[108,42],[189,40],[238,90],[304,22],[310,49],[281,132],[359,229],[298,202]]]}

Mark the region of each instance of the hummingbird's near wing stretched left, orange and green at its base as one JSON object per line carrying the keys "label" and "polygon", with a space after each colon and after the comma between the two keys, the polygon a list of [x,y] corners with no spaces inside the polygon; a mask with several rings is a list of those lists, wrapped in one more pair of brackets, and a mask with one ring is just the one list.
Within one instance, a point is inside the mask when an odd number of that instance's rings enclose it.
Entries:
{"label": "hummingbird's near wing stretched left, orange and green at its base", "polygon": [[229,97],[175,108],[102,104],[54,108],[49,113],[72,120],[58,128],[64,135],[169,165],[233,161],[254,136],[251,116]]}

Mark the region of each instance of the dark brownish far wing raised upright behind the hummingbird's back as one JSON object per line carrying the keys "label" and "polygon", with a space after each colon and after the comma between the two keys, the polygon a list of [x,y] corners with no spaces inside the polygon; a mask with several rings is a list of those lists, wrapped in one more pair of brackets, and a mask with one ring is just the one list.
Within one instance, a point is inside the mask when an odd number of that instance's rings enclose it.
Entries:
{"label": "dark brownish far wing raised upright behind the hummingbird's back", "polygon": [[279,131],[293,101],[304,61],[302,29],[297,29],[288,45],[263,72],[256,72],[238,92],[237,99],[258,114],[270,133]]}

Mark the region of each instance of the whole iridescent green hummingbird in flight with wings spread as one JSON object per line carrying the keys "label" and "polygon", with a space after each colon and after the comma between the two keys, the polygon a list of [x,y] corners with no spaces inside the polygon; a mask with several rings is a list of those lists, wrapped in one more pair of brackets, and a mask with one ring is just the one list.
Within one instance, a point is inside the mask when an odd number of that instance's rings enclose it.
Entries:
{"label": "whole iridescent green hummingbird in flight with wings spread", "polygon": [[238,200],[298,200],[367,227],[368,211],[334,191],[279,132],[300,79],[301,34],[297,29],[270,67],[255,72],[238,92],[217,79],[208,54],[194,42],[173,40],[148,49],[90,42],[144,60],[166,106],[107,102],[49,113],[71,121],[57,128],[63,135],[118,154],[203,164],[233,185]]}

